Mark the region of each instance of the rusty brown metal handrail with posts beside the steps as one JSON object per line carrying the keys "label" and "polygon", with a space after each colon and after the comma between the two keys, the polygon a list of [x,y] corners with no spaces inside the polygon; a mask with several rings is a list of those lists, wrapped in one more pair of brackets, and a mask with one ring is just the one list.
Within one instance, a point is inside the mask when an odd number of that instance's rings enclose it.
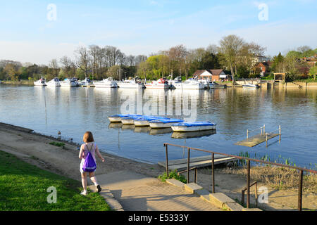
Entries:
{"label": "rusty brown metal handrail with posts beside the steps", "polygon": [[215,172],[214,172],[214,167],[215,167],[215,154],[216,155],[225,155],[228,156],[230,158],[237,158],[240,160],[247,160],[247,208],[249,208],[249,204],[250,204],[250,162],[260,162],[263,164],[268,164],[268,165],[275,165],[278,167],[286,167],[286,168],[290,168],[290,169],[297,169],[299,171],[299,193],[298,193],[298,210],[302,211],[302,194],[303,194],[303,173],[304,172],[309,172],[309,173],[313,173],[313,174],[317,174],[316,170],[313,169],[306,169],[306,168],[302,168],[302,167],[294,167],[294,166],[290,166],[290,165],[284,165],[284,164],[280,164],[280,163],[276,163],[276,162],[268,162],[268,161],[264,161],[264,160],[256,160],[256,159],[251,159],[251,158],[247,158],[247,157],[242,157],[242,156],[237,156],[237,155],[230,155],[230,154],[225,154],[225,153],[216,153],[213,152],[211,150],[204,150],[204,149],[200,149],[200,148],[192,148],[192,147],[188,147],[188,146],[180,146],[180,145],[175,145],[173,143],[164,143],[164,147],[166,147],[166,174],[168,176],[168,146],[175,146],[175,147],[179,147],[179,148],[187,148],[188,150],[188,156],[187,156],[187,182],[189,181],[189,162],[190,162],[190,150],[198,150],[201,152],[205,152],[205,153],[211,153],[211,159],[212,159],[212,167],[211,167],[211,171],[212,171],[212,186],[213,186],[213,193],[215,193]]}

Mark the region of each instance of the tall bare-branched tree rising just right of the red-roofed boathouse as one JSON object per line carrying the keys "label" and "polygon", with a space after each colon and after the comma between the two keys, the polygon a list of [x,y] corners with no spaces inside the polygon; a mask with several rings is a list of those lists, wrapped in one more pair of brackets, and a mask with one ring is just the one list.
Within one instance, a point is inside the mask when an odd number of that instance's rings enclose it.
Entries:
{"label": "tall bare-branched tree rising just right of the red-roofed boathouse", "polygon": [[223,54],[225,64],[230,68],[232,81],[235,82],[235,73],[237,72],[237,57],[244,46],[244,40],[235,35],[223,37],[220,40],[220,53]]}

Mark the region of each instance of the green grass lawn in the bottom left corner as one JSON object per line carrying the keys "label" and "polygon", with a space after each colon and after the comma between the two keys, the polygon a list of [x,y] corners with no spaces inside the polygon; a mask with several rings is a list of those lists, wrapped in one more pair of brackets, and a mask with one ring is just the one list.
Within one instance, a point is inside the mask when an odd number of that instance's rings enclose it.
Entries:
{"label": "green grass lawn in the bottom left corner", "polygon": [[[0,151],[0,211],[109,211],[99,193],[80,195],[80,181],[68,179]],[[47,203],[56,188],[57,203]]]}

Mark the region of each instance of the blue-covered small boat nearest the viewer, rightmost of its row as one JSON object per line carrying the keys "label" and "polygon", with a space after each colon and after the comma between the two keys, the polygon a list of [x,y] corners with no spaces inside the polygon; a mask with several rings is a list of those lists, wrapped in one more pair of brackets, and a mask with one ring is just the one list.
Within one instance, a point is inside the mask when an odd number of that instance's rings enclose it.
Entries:
{"label": "blue-covered small boat nearest the viewer, rightmost of its row", "polygon": [[180,122],[173,124],[172,129],[177,132],[206,131],[216,129],[216,124],[212,122]]}

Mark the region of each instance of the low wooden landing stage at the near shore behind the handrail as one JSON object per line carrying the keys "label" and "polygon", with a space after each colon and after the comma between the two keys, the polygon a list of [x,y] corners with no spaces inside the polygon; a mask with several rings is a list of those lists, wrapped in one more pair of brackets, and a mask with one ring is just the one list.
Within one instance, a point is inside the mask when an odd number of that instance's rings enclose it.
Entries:
{"label": "low wooden landing stage at the near shore behind the handrail", "polygon": [[[225,155],[215,155],[215,165],[234,162],[236,158],[229,158]],[[162,167],[166,168],[166,161],[158,162],[158,164]],[[211,155],[201,156],[197,158],[190,158],[189,167],[209,167],[212,165]],[[169,160],[168,161],[168,169],[187,169],[187,158],[180,160]]]}

